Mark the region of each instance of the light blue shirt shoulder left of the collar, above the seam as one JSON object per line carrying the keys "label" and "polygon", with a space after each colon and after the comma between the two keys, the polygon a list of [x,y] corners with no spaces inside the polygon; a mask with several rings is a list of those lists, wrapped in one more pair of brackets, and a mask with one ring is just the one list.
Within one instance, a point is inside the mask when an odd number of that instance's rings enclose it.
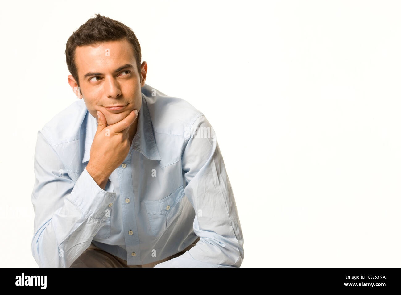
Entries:
{"label": "light blue shirt shoulder left of the collar, above the seam", "polygon": [[85,102],[77,100],[53,116],[40,132],[52,146],[77,140],[87,112]]}

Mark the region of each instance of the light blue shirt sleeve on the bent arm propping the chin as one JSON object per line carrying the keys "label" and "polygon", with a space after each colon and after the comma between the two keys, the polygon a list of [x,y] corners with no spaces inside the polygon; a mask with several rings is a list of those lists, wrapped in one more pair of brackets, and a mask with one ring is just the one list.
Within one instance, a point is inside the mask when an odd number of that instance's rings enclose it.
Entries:
{"label": "light blue shirt sleeve on the bent arm propping the chin", "polygon": [[70,267],[106,224],[117,195],[110,181],[103,190],[86,169],[74,183],[41,131],[34,173],[32,255],[39,267]]}

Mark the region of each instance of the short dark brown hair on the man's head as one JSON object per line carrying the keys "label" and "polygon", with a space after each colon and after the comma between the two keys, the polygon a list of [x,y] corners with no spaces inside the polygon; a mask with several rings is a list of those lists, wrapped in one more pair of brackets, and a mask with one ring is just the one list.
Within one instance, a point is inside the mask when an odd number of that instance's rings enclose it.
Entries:
{"label": "short dark brown hair on the man's head", "polygon": [[117,41],[125,38],[132,44],[138,73],[141,73],[141,46],[132,29],[117,20],[100,14],[95,15],[95,18],[89,18],[68,38],[65,48],[68,70],[77,81],[78,86],[78,70],[75,65],[75,49],[77,46],[97,45],[101,42]]}

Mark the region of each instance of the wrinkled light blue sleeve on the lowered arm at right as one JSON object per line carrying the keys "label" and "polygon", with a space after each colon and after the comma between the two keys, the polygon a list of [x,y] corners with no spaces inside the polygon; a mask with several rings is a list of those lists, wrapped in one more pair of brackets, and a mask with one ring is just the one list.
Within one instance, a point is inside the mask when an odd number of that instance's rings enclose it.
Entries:
{"label": "wrinkled light blue sleeve on the lowered arm at right", "polygon": [[243,235],[231,183],[215,132],[205,116],[188,132],[182,153],[185,195],[196,216],[196,246],[155,267],[240,267]]}

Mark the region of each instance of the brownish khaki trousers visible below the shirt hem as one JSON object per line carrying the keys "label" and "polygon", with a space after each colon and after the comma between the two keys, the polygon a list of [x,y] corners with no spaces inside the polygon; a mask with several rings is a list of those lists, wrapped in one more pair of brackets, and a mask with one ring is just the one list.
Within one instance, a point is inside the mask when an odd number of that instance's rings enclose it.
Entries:
{"label": "brownish khaki trousers visible below the shirt hem", "polygon": [[71,264],[71,267],[154,267],[156,264],[162,263],[164,261],[178,257],[181,254],[184,254],[187,250],[195,246],[200,239],[201,238],[198,237],[193,242],[193,244],[190,244],[188,247],[186,247],[181,252],[178,252],[177,254],[171,255],[162,260],[142,265],[127,265],[126,260],[114,256],[113,254],[110,254],[108,252],[105,252],[97,248],[95,244],[91,243],[91,245],[85,251],[83,251],[81,256],[79,256],[78,259],[75,260],[73,264]]}

